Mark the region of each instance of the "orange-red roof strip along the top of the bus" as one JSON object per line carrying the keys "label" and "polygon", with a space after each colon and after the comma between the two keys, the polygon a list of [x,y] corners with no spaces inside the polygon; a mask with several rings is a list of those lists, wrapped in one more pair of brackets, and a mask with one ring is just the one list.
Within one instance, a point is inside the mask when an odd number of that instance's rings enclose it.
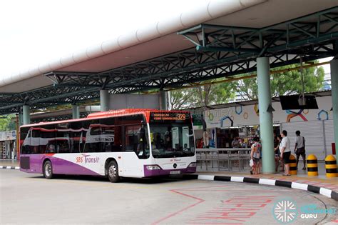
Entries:
{"label": "orange-red roof strip along the top of the bus", "polygon": [[86,118],[81,119],[67,119],[67,120],[59,120],[59,121],[51,121],[51,122],[40,122],[39,124],[26,124],[20,127],[30,127],[30,126],[39,126],[39,125],[48,125],[48,124],[58,124],[58,123],[69,123],[75,121],[86,121],[90,119],[101,119],[108,117],[118,117],[118,116],[135,116],[143,114],[147,122],[149,122],[150,112],[173,112],[173,113],[190,113],[189,111],[181,111],[181,110],[159,110],[159,109],[118,109],[118,110],[109,110],[109,111],[100,111],[93,114],[89,114]]}

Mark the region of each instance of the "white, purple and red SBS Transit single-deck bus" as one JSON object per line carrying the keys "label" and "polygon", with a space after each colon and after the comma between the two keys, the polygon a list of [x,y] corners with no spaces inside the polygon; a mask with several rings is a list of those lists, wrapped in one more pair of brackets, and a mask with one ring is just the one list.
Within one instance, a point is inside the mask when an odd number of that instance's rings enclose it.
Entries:
{"label": "white, purple and red SBS Transit single-deck bus", "polygon": [[20,170],[43,174],[151,177],[196,171],[189,111],[121,109],[20,127]]}

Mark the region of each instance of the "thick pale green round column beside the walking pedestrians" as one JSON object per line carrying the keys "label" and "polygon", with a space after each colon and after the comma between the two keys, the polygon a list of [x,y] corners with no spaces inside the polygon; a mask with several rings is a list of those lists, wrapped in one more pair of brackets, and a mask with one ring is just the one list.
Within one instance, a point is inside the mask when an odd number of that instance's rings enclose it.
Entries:
{"label": "thick pale green round column beside the walking pedestrians", "polygon": [[257,58],[258,106],[260,110],[260,139],[262,140],[262,173],[275,173],[273,150],[270,64],[268,57]]}

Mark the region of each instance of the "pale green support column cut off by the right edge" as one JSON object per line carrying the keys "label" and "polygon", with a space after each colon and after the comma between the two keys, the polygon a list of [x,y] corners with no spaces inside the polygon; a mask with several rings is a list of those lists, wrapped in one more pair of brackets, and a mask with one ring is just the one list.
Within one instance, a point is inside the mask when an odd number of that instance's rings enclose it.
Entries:
{"label": "pale green support column cut off by the right edge", "polygon": [[338,159],[338,59],[333,59],[330,66],[334,143],[336,143],[336,159]]}

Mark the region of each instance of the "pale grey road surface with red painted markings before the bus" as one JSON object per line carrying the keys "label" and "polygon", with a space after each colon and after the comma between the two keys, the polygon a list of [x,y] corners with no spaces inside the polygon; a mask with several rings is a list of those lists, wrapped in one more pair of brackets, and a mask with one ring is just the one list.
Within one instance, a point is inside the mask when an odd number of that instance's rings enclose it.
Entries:
{"label": "pale grey road surface with red painted markings before the bus", "polygon": [[285,199],[296,207],[292,224],[338,219],[337,212],[301,218],[304,206],[337,209],[337,201],[277,186],[181,179],[112,184],[90,176],[47,180],[8,169],[0,170],[0,182],[0,224],[281,224],[276,218],[290,211],[278,215],[276,207]]}

